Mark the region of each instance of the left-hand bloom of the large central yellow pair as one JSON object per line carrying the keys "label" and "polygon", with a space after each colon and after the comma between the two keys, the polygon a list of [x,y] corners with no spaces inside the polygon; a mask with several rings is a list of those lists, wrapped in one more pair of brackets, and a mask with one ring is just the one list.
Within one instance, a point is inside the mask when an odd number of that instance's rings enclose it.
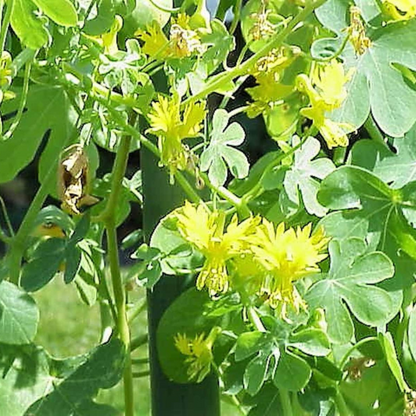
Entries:
{"label": "left-hand bloom of the large central yellow pair", "polygon": [[259,219],[248,218],[238,224],[234,216],[224,232],[224,212],[208,212],[203,205],[195,207],[189,202],[177,211],[176,218],[182,237],[205,256],[197,288],[207,287],[211,296],[225,293],[230,285],[227,261],[248,249]]}

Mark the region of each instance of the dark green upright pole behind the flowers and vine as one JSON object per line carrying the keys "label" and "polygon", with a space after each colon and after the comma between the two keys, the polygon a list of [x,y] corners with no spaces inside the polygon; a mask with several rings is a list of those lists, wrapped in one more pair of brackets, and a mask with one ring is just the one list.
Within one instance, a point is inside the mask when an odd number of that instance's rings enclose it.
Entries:
{"label": "dark green upright pole behind the flowers and vine", "polygon": [[[143,230],[146,241],[158,221],[182,205],[185,196],[177,185],[170,185],[165,170],[148,150],[141,149],[143,180]],[[185,289],[183,279],[162,276],[147,294],[149,321],[149,357],[152,395],[152,416],[219,416],[218,380],[208,376],[199,384],[177,384],[163,374],[156,348],[156,330],[167,307]],[[140,415],[138,415],[140,416]]]}

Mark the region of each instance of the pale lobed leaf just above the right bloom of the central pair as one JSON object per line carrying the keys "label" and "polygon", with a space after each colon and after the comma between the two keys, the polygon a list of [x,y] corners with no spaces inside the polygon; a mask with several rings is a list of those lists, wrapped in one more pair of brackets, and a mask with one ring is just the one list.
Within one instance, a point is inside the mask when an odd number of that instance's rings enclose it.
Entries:
{"label": "pale lobed leaf just above the right bloom of the central pair", "polygon": [[[295,140],[293,145],[296,146],[299,139]],[[335,165],[330,159],[314,159],[321,146],[319,141],[310,137],[295,152],[294,163],[285,174],[283,186],[289,200],[296,206],[300,205],[299,193],[306,211],[311,215],[323,217],[328,211],[317,200],[319,182],[317,179],[323,179],[335,169]],[[316,178],[316,179],[315,179]]]}

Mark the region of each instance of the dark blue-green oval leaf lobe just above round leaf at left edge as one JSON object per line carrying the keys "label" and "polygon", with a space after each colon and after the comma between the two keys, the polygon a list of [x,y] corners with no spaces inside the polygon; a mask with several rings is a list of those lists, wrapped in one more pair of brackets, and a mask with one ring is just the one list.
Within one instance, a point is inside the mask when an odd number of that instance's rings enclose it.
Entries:
{"label": "dark blue-green oval leaf lobe just above round leaf at left edge", "polygon": [[49,283],[65,259],[65,241],[49,238],[39,244],[33,260],[23,267],[21,285],[27,292],[36,292]]}

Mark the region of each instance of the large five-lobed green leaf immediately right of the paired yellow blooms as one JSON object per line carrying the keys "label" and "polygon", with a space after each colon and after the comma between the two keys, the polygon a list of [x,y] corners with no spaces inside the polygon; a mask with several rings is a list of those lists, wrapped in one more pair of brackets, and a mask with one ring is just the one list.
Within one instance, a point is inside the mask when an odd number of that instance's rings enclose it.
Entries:
{"label": "large five-lobed green leaf immediately right of the paired yellow blooms", "polygon": [[358,238],[331,241],[328,275],[306,294],[312,309],[325,309],[328,337],[334,343],[346,343],[354,335],[346,305],[369,326],[384,325],[391,319],[389,293],[373,284],[392,277],[393,264],[384,253],[366,251],[366,244]]}

